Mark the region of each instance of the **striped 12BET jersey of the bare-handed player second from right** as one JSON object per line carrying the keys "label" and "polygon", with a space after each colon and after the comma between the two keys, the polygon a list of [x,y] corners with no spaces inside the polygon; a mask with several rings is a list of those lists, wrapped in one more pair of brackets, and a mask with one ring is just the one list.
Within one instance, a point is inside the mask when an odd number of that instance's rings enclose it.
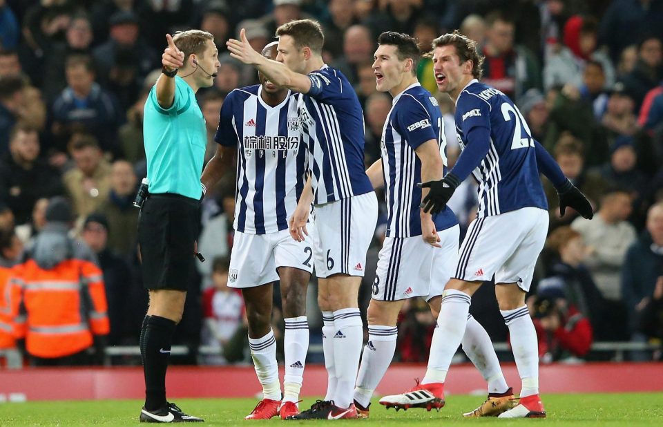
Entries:
{"label": "striped 12BET jersey of the bare-handed player second from right", "polygon": [[[394,97],[382,131],[382,170],[387,200],[387,237],[421,236],[421,160],[414,150],[436,140],[446,173],[446,137],[440,107],[419,83]],[[437,231],[458,224],[454,212],[445,207],[434,216]]]}

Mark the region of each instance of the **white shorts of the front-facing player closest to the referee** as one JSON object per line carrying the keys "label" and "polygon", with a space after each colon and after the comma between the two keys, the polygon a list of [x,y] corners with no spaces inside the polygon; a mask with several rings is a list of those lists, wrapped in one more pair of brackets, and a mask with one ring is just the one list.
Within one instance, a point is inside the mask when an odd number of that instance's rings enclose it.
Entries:
{"label": "white shorts of the front-facing player closest to the referee", "polygon": [[235,232],[228,273],[229,287],[254,287],[278,281],[279,267],[313,271],[313,244],[316,227],[307,224],[309,236],[294,240],[289,231],[269,234]]}

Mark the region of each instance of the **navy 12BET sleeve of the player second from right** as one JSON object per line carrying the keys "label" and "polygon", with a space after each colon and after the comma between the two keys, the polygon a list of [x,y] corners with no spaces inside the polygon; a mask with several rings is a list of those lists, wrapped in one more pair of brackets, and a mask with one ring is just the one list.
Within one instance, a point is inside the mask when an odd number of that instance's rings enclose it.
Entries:
{"label": "navy 12BET sleeve of the player second from right", "polygon": [[396,111],[398,133],[405,137],[407,144],[410,144],[412,149],[416,150],[426,141],[437,140],[438,135],[435,135],[431,123],[432,117],[421,102],[410,95],[403,95],[398,104],[401,104],[398,105]]}

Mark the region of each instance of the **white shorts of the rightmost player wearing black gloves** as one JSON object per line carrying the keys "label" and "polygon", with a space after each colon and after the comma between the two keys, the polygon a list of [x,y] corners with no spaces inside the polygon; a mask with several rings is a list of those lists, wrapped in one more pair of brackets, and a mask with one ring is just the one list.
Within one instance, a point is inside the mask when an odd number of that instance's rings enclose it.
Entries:
{"label": "white shorts of the rightmost player wearing black gloves", "polygon": [[518,283],[527,292],[547,234],[548,211],[537,207],[477,218],[465,235],[453,277],[490,281],[494,274],[495,283]]}

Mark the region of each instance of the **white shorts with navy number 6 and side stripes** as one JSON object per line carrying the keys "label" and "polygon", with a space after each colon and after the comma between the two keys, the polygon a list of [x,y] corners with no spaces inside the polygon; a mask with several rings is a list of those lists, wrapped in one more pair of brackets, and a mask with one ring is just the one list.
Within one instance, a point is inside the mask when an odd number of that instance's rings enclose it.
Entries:
{"label": "white shorts with navy number 6 and side stripes", "polygon": [[314,242],[316,276],[364,276],[366,252],[378,222],[375,193],[316,206],[318,240]]}

